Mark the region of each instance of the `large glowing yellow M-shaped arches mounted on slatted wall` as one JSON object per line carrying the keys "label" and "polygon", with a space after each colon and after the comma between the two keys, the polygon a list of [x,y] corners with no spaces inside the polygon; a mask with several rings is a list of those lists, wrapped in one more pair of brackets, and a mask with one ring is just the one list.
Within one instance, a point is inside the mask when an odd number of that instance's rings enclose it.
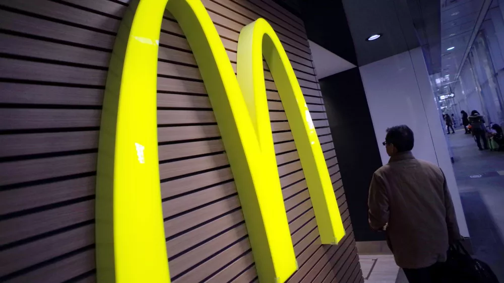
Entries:
{"label": "large glowing yellow M-shaped arches mounted on slatted wall", "polygon": [[157,60],[168,9],[200,68],[222,135],[261,282],[297,270],[278,176],[264,55],[285,108],[323,244],[345,231],[319,139],[292,66],[263,19],[239,35],[237,76],[200,0],[135,0],[110,60],[100,128],[96,193],[99,282],[169,282],[157,144]]}

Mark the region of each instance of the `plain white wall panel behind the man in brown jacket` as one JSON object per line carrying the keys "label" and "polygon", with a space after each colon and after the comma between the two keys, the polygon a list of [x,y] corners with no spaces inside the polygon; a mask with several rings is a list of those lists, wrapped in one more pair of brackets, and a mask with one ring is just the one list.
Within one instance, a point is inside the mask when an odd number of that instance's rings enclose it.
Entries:
{"label": "plain white wall panel behind the man in brown jacket", "polygon": [[443,169],[460,232],[462,236],[469,237],[440,112],[420,47],[361,66],[360,74],[383,164],[389,160],[382,146],[386,129],[394,125],[408,125],[415,134],[415,157]]}

